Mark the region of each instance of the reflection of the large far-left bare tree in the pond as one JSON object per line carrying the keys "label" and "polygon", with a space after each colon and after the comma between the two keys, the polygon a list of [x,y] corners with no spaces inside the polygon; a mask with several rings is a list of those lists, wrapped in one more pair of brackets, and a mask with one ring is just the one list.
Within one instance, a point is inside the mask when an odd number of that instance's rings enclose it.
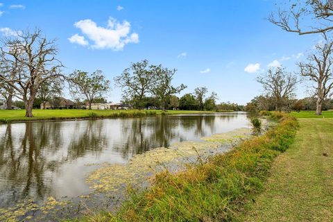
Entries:
{"label": "reflection of the large far-left bare tree in the pond", "polygon": [[[49,193],[44,172],[54,171],[55,166],[47,162],[42,150],[54,138],[50,135],[48,140],[45,130],[44,124],[33,128],[33,123],[25,123],[24,135],[17,140],[12,136],[12,125],[8,124],[5,135],[0,138],[4,142],[0,144],[1,178],[7,181],[1,184],[2,204],[15,203],[27,196],[42,199]],[[3,200],[3,196],[7,197]]]}

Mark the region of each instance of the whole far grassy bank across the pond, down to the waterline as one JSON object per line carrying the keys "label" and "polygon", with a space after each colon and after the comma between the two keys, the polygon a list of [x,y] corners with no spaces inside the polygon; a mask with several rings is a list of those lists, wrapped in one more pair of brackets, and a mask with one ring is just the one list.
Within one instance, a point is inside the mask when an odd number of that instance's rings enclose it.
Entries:
{"label": "whole far grassy bank across the pond, down to the waterline", "polygon": [[188,110],[33,110],[31,118],[24,117],[25,110],[0,110],[0,123],[10,121],[96,119],[114,117],[142,117],[157,114],[203,114],[211,112]]}

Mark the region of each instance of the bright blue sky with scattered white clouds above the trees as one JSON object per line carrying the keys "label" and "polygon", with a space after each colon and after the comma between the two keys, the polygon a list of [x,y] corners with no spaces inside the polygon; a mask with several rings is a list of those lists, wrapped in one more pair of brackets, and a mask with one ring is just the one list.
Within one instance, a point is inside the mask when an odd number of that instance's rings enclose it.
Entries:
{"label": "bright blue sky with scattered white clouds above the trees", "polygon": [[[320,37],[282,31],[266,19],[282,1],[1,1],[0,35],[40,28],[56,39],[63,72],[103,71],[114,86],[131,62],[147,59],[177,69],[180,95],[207,87],[219,102],[245,104],[262,94],[255,78],[269,66],[297,72]],[[284,1],[286,2],[286,1]],[[298,98],[307,96],[300,85]]]}

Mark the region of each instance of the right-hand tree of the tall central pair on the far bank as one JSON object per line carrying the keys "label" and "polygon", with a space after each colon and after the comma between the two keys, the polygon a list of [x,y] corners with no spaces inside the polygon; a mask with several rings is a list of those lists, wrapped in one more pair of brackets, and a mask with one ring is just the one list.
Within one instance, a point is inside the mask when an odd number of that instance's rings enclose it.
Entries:
{"label": "right-hand tree of the tall central pair on the far bank", "polygon": [[157,81],[151,92],[155,99],[159,102],[160,107],[165,110],[167,104],[170,101],[170,96],[172,94],[178,94],[187,86],[181,84],[178,87],[171,85],[173,75],[176,73],[176,69],[164,68],[161,65],[155,68],[155,75],[157,76]]}

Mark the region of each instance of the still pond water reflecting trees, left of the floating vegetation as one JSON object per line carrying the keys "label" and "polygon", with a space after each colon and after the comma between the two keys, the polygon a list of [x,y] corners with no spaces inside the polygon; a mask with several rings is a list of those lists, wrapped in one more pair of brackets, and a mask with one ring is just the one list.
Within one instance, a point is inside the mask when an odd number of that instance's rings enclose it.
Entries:
{"label": "still pond water reflecting trees, left of the floating vegetation", "polygon": [[89,193],[85,178],[96,164],[244,127],[244,113],[3,124],[0,208],[28,198],[75,198]]}

